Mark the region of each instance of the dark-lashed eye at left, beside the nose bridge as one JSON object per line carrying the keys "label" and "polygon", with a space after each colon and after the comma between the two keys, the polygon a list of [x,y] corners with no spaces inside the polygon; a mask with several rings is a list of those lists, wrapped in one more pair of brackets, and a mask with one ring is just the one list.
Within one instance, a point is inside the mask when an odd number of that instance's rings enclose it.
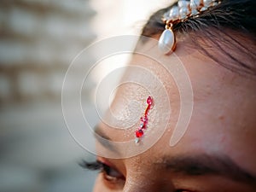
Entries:
{"label": "dark-lashed eye at left, beside the nose bridge", "polygon": [[121,173],[99,160],[96,160],[95,162],[87,162],[86,160],[83,160],[82,163],[79,163],[79,166],[90,171],[102,172],[104,179],[108,182],[114,183],[118,182],[120,179],[125,180],[125,177]]}

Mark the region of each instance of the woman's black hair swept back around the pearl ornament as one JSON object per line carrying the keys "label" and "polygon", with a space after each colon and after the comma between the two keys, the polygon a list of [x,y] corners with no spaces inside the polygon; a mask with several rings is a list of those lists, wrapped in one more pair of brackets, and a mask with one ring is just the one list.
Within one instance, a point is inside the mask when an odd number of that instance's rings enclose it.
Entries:
{"label": "woman's black hair swept back around the pearl ornament", "polygon": [[[165,23],[161,18],[176,4],[154,13],[142,35],[152,38],[163,32]],[[194,47],[218,64],[236,73],[256,76],[255,5],[255,0],[223,0],[196,17],[174,24],[173,32],[177,37],[190,37]]]}

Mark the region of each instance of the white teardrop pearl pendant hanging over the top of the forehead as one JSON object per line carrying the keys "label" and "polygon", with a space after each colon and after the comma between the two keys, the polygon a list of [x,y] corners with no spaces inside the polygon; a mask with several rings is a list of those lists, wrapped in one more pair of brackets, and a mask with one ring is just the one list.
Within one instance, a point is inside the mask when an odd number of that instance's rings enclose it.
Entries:
{"label": "white teardrop pearl pendant hanging over the top of the forehead", "polygon": [[168,54],[175,49],[176,40],[171,29],[166,29],[160,36],[158,47],[161,52]]}

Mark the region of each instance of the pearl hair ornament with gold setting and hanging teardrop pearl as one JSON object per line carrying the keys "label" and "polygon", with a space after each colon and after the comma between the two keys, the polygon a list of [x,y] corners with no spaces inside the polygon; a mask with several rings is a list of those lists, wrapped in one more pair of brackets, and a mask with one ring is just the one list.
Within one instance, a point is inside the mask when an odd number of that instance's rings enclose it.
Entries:
{"label": "pearl hair ornament with gold setting and hanging teardrop pearl", "polygon": [[177,6],[173,6],[162,17],[166,24],[166,30],[162,32],[159,39],[159,49],[164,54],[170,54],[176,48],[176,37],[172,31],[174,24],[183,22],[189,17],[196,17],[213,6],[218,5],[220,0],[179,0]]}

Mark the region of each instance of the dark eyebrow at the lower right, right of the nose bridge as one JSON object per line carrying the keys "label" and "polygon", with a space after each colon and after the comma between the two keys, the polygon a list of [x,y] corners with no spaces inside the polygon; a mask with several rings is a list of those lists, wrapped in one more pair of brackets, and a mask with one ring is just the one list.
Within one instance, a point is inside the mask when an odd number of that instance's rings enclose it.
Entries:
{"label": "dark eyebrow at the lower right, right of the nose bridge", "polygon": [[218,175],[236,182],[256,186],[256,177],[241,168],[241,166],[238,166],[226,155],[178,155],[171,158],[163,158],[161,164],[164,164],[167,170],[183,175]]}

